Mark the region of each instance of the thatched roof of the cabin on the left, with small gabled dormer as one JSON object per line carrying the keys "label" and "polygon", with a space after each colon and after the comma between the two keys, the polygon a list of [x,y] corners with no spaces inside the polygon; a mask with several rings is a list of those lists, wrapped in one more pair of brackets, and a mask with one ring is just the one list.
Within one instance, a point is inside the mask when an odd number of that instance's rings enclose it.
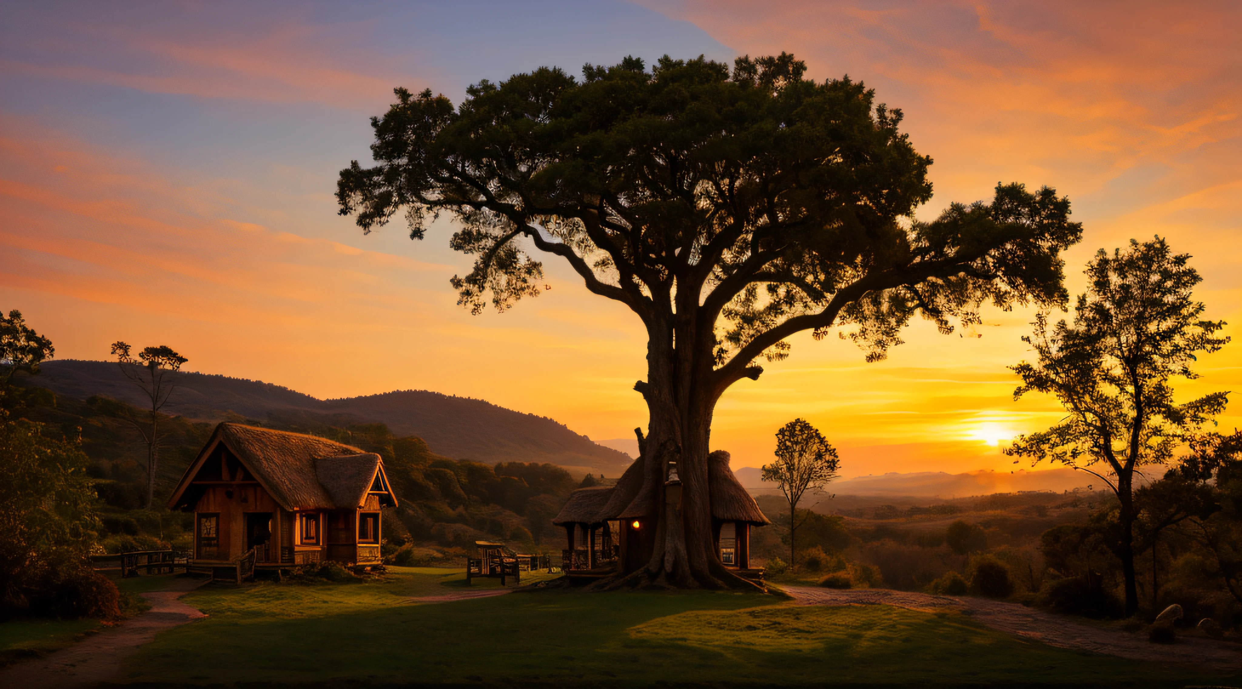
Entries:
{"label": "thatched roof of the cabin on the left, with small gabled dormer", "polygon": [[[379,454],[344,443],[241,423],[220,423],[173,492],[170,509],[180,505],[190,482],[219,444],[241,461],[272,499],[291,511],[361,507],[376,474],[384,472]],[[395,495],[392,503],[396,504]]]}

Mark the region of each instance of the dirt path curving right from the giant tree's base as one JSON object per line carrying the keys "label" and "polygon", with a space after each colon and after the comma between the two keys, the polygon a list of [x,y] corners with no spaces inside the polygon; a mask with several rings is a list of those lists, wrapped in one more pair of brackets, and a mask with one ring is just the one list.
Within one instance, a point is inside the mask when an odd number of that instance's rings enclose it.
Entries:
{"label": "dirt path curving right from the giant tree's base", "polygon": [[955,610],[994,629],[1049,646],[1119,655],[1133,660],[1161,660],[1218,669],[1242,668],[1242,647],[1237,644],[1202,638],[1179,638],[1177,643],[1169,646],[1154,644],[1139,633],[1102,629],[1018,603],[884,588],[835,590],[812,586],[782,588],[794,596],[797,605],[804,606],[888,605],[924,612]]}

